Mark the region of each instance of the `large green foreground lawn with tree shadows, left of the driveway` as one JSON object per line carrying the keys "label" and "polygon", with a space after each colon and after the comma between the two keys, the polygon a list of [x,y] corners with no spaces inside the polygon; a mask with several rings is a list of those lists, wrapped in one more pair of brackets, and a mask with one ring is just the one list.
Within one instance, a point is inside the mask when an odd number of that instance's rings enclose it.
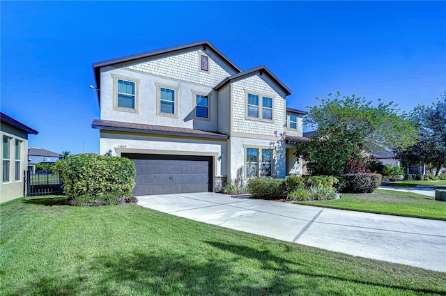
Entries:
{"label": "large green foreground lawn with tree shadows, left of the driveway", "polygon": [[51,197],[0,206],[0,295],[446,295],[446,273]]}

